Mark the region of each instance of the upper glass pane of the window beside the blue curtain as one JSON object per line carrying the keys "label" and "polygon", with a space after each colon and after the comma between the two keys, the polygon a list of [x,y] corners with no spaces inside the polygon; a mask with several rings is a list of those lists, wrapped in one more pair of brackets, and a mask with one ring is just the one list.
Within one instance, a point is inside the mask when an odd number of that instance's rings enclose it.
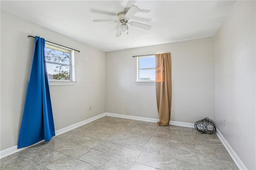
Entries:
{"label": "upper glass pane of the window beside the blue curtain", "polygon": [[59,51],[54,48],[45,47],[45,58],[46,61],[70,65],[70,56],[67,50]]}

